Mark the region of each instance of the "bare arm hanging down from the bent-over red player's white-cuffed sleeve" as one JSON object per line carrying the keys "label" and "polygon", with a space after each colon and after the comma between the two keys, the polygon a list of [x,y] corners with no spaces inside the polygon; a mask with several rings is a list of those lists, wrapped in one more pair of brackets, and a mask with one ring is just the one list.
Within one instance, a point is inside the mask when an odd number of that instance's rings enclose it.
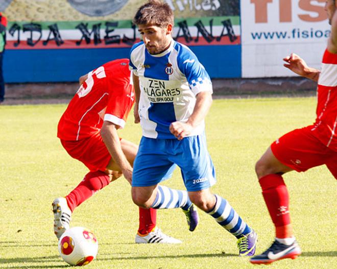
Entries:
{"label": "bare arm hanging down from the bent-over red player's white-cuffed sleeve", "polygon": [[117,134],[118,126],[105,120],[101,129],[103,141],[116,164],[121,168],[126,180],[131,184],[132,181],[132,166],[128,162],[122,150],[121,141]]}

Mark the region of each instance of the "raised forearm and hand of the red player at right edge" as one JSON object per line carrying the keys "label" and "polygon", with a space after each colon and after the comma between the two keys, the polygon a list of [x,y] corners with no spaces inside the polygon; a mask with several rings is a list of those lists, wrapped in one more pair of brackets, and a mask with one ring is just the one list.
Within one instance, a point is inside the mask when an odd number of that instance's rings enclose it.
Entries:
{"label": "raised forearm and hand of the red player at right edge", "polygon": [[297,54],[292,53],[291,55],[283,58],[283,61],[286,62],[283,66],[292,70],[295,74],[316,82],[318,81],[321,71],[319,69],[309,67]]}

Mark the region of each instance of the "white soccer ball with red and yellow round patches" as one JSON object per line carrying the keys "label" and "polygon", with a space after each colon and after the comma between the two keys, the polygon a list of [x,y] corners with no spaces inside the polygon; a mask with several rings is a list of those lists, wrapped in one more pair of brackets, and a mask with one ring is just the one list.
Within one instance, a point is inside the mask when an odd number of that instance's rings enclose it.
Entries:
{"label": "white soccer ball with red and yellow round patches", "polygon": [[70,265],[86,265],[96,257],[97,252],[97,238],[83,227],[66,230],[59,240],[59,253]]}

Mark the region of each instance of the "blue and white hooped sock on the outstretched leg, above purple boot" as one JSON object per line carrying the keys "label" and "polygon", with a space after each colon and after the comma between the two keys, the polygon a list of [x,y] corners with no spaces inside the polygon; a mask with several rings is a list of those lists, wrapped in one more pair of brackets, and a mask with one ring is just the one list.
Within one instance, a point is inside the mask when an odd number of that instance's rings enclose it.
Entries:
{"label": "blue and white hooped sock on the outstretched leg, above purple boot", "polygon": [[249,234],[252,229],[243,221],[243,219],[235,212],[230,204],[220,197],[215,195],[216,202],[214,208],[207,212],[215,218],[222,227],[233,234],[236,238]]}

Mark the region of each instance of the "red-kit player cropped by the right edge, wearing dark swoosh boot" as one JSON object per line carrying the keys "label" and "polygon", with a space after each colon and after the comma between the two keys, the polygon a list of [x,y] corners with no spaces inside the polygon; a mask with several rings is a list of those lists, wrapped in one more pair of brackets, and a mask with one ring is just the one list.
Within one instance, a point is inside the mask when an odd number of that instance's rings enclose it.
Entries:
{"label": "red-kit player cropped by the right edge, wearing dark swoosh boot", "polygon": [[322,60],[322,70],[310,68],[296,54],[284,66],[296,74],[318,82],[317,118],[313,125],[296,129],[277,139],[256,163],[256,174],[264,201],[275,225],[276,238],[271,247],[250,259],[251,263],[271,263],[296,258],[301,249],[290,221],[289,195],[282,174],[325,164],[337,179],[337,6],[325,4],[331,35]]}

